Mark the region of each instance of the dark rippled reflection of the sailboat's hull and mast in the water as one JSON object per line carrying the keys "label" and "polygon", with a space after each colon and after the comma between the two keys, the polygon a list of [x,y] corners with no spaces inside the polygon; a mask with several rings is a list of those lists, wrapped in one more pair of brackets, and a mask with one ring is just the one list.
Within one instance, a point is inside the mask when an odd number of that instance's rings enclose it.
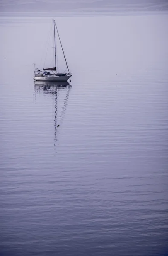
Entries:
{"label": "dark rippled reflection of the sailboat's hull and mast in the water", "polygon": [[[70,94],[70,88],[72,85],[69,84],[67,81],[34,81],[34,90],[35,90],[35,98],[36,94],[40,94],[43,92],[44,94],[48,95],[55,95],[55,119],[54,119],[54,127],[55,127],[55,143],[57,141],[57,129],[58,125],[61,125],[64,119],[64,115],[67,109],[67,102]],[[62,110],[59,116],[59,124],[58,124],[58,92],[60,90],[67,90],[66,96],[64,98],[64,103],[62,104]],[[54,143],[54,145],[55,145]]]}

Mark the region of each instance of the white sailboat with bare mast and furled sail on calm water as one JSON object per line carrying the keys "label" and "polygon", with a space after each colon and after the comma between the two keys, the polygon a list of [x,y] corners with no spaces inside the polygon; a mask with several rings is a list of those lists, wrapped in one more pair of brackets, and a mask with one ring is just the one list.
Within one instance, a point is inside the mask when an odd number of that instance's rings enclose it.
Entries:
{"label": "white sailboat with bare mast and furled sail on calm water", "polygon": [[[72,73],[70,73],[70,70],[69,70],[69,67],[67,64],[67,60],[66,60],[66,57],[64,54],[64,49],[62,47],[61,39],[60,39],[60,36],[58,33],[58,29],[57,29],[55,20],[53,20],[53,28],[54,28],[55,67],[43,68],[43,70],[37,70],[35,67],[35,70],[34,70],[34,80],[35,81],[68,81],[68,79],[70,79],[70,77],[72,76]],[[56,62],[55,28],[56,28],[58,38],[59,38],[59,41],[61,44],[62,52],[64,54],[68,73],[57,73],[57,66],[58,66],[57,64],[58,63]],[[34,66],[35,66],[35,63],[34,63]],[[52,71],[52,72],[50,72],[50,71]]]}

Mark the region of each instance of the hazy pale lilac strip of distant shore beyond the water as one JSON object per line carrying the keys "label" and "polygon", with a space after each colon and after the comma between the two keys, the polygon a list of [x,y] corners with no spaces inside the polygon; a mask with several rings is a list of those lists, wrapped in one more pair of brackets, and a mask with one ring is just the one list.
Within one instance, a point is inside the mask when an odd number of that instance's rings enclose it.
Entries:
{"label": "hazy pale lilac strip of distant shore beyond the water", "polygon": [[168,11],[167,0],[0,0],[0,12]]}

